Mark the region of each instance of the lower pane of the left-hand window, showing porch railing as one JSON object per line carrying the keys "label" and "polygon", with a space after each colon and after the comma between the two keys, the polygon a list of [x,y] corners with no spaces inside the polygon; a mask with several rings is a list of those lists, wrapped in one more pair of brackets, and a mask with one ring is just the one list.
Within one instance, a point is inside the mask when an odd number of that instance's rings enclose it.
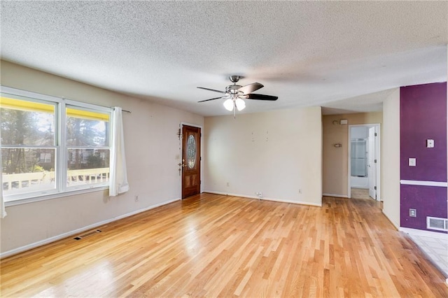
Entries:
{"label": "lower pane of the left-hand window, showing porch railing", "polygon": [[55,148],[2,148],[3,194],[54,190],[55,157]]}

